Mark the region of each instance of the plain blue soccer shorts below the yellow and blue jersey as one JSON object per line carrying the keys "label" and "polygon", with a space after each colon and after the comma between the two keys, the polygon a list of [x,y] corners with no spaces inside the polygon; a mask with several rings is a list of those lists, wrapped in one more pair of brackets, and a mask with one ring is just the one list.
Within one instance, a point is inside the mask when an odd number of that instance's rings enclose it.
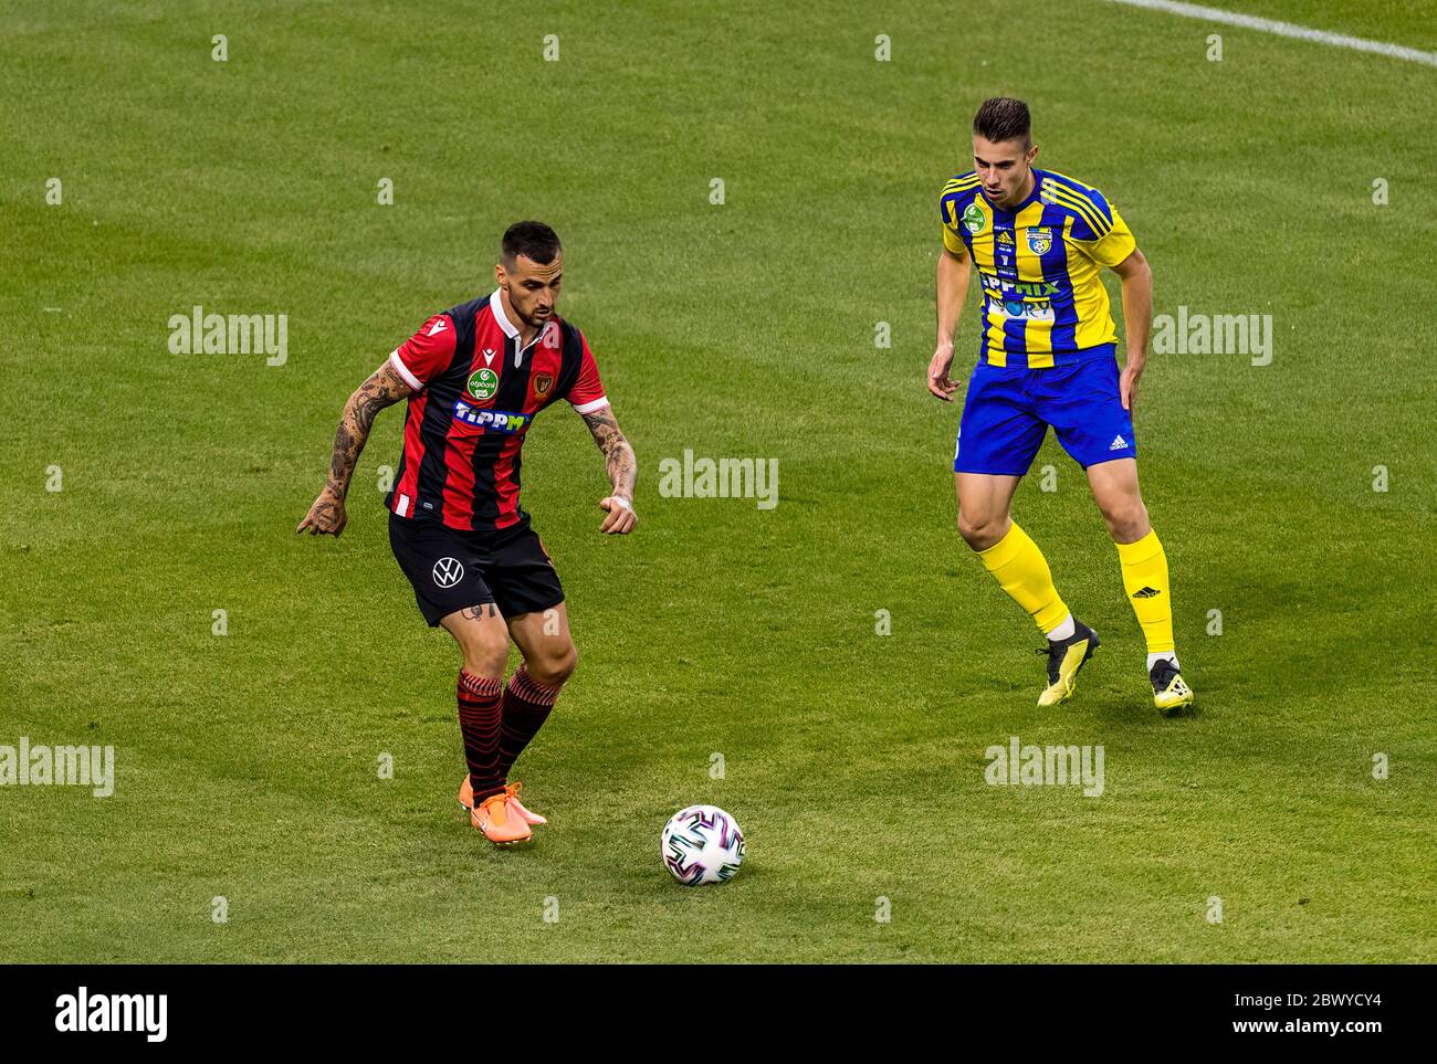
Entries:
{"label": "plain blue soccer shorts below the yellow and blue jersey", "polygon": [[953,470],[1022,477],[1049,425],[1085,470],[1114,458],[1137,458],[1132,415],[1122,409],[1111,347],[1049,369],[973,366]]}

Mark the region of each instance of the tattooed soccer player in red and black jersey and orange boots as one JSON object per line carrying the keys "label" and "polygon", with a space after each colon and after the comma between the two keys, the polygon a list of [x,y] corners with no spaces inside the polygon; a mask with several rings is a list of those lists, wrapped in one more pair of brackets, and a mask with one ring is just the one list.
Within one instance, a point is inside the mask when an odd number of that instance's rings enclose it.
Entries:
{"label": "tattooed soccer player in red and black jersey and orange boots", "polygon": [[[552,228],[504,233],[499,287],[435,314],[349,396],[325,490],[296,531],[339,536],[345,495],[375,415],[408,399],[389,507],[389,546],[424,619],[464,655],[458,721],[468,774],[460,804],[494,843],[545,818],[519,801],[514,760],[549,717],[578,661],[563,587],[519,505],[519,467],[535,415],[568,401],[593,434],[611,482],[599,531],[634,530],[637,465],[588,342],[556,313],[563,250]],[[509,640],[523,663],[503,682]]]}

